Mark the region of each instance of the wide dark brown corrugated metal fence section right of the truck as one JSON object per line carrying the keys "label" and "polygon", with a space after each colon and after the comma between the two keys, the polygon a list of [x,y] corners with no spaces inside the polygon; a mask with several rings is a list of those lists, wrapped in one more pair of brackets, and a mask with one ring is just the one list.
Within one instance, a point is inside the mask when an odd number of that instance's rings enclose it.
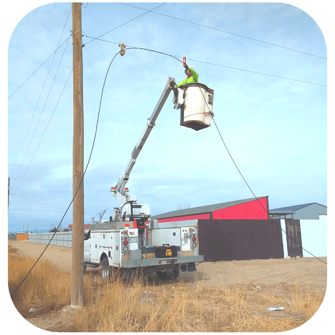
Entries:
{"label": "wide dark brown corrugated metal fence section right of the truck", "polygon": [[283,258],[280,223],[270,220],[198,220],[205,262]]}

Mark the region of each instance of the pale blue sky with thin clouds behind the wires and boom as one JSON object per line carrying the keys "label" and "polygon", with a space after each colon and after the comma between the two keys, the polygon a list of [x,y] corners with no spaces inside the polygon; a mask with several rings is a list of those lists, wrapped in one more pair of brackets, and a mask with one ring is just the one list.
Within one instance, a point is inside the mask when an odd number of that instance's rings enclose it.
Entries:
{"label": "pale blue sky with thin clouds behind the wires and boom", "polygon": [[[151,10],[162,3],[129,4]],[[11,37],[9,31],[7,97],[72,29],[70,3],[36,6],[16,18]],[[306,4],[295,6],[168,2],[154,11],[203,26],[146,13],[101,37],[109,42],[84,36],[85,166],[105,75],[118,43],[124,43],[187,58],[199,82],[214,89],[218,129],[255,195],[269,196],[270,209],[327,205],[327,87],[322,85],[327,85],[329,41],[315,8],[306,13],[299,9]],[[82,30],[95,38],[143,13],[121,3],[88,3],[82,8]],[[32,231],[58,225],[72,199],[72,75],[64,89],[72,69],[71,42],[8,98],[10,231],[27,224]],[[106,208],[109,217],[118,206],[109,190],[123,175],[168,76],[178,83],[185,78],[182,63],[166,55],[131,49],[113,61],[84,179],[85,223]],[[196,207],[251,198],[215,125],[196,132],[179,125],[179,113],[171,93],[127,184],[138,203],[149,204],[155,215],[176,210],[181,202]],[[69,212],[62,225],[71,222]]]}

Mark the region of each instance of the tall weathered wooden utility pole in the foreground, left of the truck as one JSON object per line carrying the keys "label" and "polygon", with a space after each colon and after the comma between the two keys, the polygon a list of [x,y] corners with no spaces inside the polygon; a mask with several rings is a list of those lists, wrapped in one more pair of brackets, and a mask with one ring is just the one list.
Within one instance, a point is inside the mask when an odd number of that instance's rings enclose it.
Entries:
{"label": "tall weathered wooden utility pole in the foreground, left of the truck", "polygon": [[[84,173],[83,56],[81,2],[72,3],[73,49],[73,174],[72,193]],[[81,308],[84,297],[84,181],[73,200],[71,307]]]}

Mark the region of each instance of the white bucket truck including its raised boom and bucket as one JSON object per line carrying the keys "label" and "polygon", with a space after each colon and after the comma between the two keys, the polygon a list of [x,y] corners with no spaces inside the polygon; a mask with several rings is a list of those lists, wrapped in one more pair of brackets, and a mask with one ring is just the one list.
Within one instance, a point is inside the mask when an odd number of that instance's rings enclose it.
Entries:
{"label": "white bucket truck including its raised boom and bucket", "polygon": [[115,269],[119,269],[124,278],[131,278],[134,272],[141,270],[145,274],[156,272],[160,280],[169,280],[177,278],[180,272],[196,271],[195,263],[203,262],[203,256],[198,255],[195,227],[159,228],[158,220],[151,220],[149,205],[137,204],[136,197],[125,187],[171,90],[175,92],[174,108],[181,109],[182,126],[195,130],[210,126],[214,91],[201,83],[177,88],[175,79],[169,77],[123,177],[111,188],[120,206],[114,208],[109,220],[101,220],[100,215],[100,220],[93,221],[84,236],[84,267],[100,267],[106,280]]}

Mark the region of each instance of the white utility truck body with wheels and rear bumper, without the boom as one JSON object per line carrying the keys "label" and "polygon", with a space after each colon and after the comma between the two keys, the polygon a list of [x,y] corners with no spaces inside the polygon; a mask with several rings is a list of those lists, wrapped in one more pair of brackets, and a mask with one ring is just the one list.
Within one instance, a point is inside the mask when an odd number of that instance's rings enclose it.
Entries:
{"label": "white utility truck body with wheels and rear bumper, without the boom", "polygon": [[[195,262],[203,262],[203,256],[197,254],[194,227],[150,229],[150,222],[147,223],[148,239],[145,238],[146,229],[133,228],[132,221],[92,224],[84,238],[84,265],[96,268],[104,259],[106,264],[107,259],[108,266],[120,268],[125,278],[138,270],[144,274],[166,274],[166,279],[176,278],[180,272],[196,271]],[[163,252],[173,248],[177,253],[175,256],[163,253],[157,257],[159,247]]]}

